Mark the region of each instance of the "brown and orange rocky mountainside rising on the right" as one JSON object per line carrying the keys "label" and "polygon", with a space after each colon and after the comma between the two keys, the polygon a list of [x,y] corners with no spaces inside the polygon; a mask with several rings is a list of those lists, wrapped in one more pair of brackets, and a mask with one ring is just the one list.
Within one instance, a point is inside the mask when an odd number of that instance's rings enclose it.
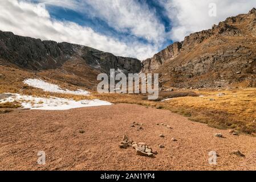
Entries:
{"label": "brown and orange rocky mountainside rising on the right", "polygon": [[256,9],[173,43],[144,60],[143,72],[160,73],[166,87],[256,86]]}

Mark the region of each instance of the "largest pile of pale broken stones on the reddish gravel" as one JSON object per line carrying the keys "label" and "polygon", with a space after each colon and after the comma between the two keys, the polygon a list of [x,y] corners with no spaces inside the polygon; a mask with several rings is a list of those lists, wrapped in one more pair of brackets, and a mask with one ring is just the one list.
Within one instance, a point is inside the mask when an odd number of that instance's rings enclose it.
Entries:
{"label": "largest pile of pale broken stones on the reddish gravel", "polygon": [[133,147],[136,150],[136,155],[148,156],[150,158],[157,154],[156,151],[152,151],[152,148],[147,146],[147,144],[145,144],[144,142],[133,142],[132,140],[129,140],[128,137],[125,135],[123,137],[123,141],[120,142],[119,147]]}

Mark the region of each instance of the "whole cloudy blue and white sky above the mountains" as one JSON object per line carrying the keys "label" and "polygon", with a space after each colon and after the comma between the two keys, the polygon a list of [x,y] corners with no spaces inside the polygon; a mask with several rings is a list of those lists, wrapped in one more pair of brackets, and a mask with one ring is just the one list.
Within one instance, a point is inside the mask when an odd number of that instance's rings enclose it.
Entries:
{"label": "whole cloudy blue and white sky above the mountains", "polygon": [[251,0],[1,0],[0,30],[144,60],[253,7]]}

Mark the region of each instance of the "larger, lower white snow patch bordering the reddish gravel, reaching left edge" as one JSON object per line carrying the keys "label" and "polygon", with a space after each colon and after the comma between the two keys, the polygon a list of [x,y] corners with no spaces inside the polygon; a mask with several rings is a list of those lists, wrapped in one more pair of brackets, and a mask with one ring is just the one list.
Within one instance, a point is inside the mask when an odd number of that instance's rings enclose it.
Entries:
{"label": "larger, lower white snow patch bordering the reddish gravel, reaching left edge", "polygon": [[[11,94],[11,93],[6,93]],[[24,109],[33,110],[68,110],[80,107],[107,106],[112,105],[110,102],[101,100],[68,100],[66,98],[50,97],[34,97],[21,94],[12,94],[11,97],[0,100],[0,103],[18,101]]]}

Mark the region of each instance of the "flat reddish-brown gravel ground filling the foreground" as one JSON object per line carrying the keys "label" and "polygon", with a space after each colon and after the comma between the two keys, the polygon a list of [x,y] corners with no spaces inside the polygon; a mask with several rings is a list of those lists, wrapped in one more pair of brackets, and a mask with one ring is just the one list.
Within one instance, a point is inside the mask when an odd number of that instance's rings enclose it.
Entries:
{"label": "flat reddish-brown gravel ground filling the foreground", "polygon": [[[144,130],[131,127],[135,121]],[[156,123],[166,123],[173,130]],[[0,114],[0,169],[28,170],[189,170],[256,169],[256,138],[230,135],[168,110],[117,104],[66,111],[13,111]],[[84,131],[84,133],[82,132]],[[160,134],[165,138],[160,138]],[[226,138],[214,137],[222,133]],[[159,154],[135,155],[120,149],[123,135],[145,142]],[[171,138],[176,138],[173,142]],[[163,144],[165,148],[159,148]],[[239,150],[245,157],[230,154]],[[46,165],[37,152],[46,152]],[[208,154],[219,155],[217,166]]]}

